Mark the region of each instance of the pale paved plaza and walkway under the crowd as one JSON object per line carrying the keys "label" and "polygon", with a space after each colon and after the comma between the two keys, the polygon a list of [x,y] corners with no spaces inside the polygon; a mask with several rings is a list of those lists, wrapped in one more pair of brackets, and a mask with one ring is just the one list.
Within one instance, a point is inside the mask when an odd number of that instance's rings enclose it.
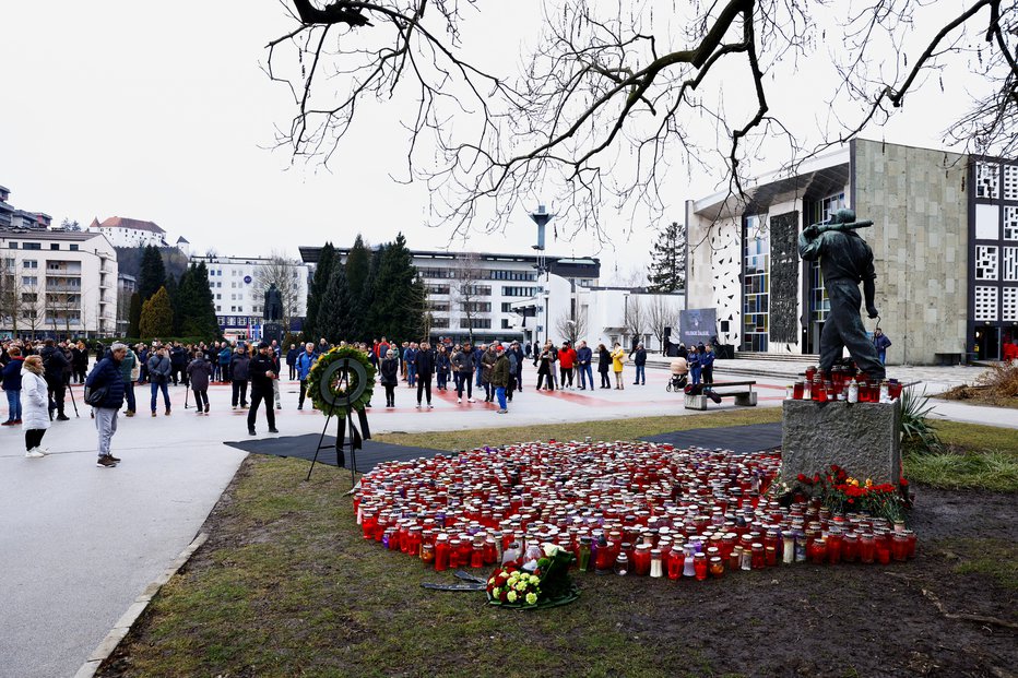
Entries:
{"label": "pale paved plaza and walkway under the crowd", "polygon": [[[665,391],[664,369],[648,369],[647,385],[624,391],[535,392],[528,362],[524,391],[508,415],[483,402],[457,405],[455,393],[435,392],[435,408],[416,409],[415,392],[401,386],[398,407],[378,407],[372,431],[474,429],[524,424],[554,424],[693,414],[682,394]],[[719,361],[715,380],[737,377],[731,369],[750,361]],[[795,366],[760,366],[759,403],[773,407],[784,397]],[[975,368],[913,368],[930,383],[971,382]],[[891,374],[904,370],[891,369]],[[916,378],[920,372],[916,372]],[[632,367],[627,366],[627,376]],[[185,389],[170,388],[174,409],[147,412],[147,386],[137,389],[139,416],[120,417],[113,452],[123,462],[111,469],[95,466],[96,432],[75,388],[80,418],[68,402],[70,421],[54,423],[44,440],[51,454],[24,456],[20,427],[0,430],[0,676],[51,678],[72,676],[134,598],[194,538],[228,485],[245,453],[223,441],[248,438],[246,412],[229,407],[229,388],[210,389],[211,414],[185,409]],[[475,391],[475,396],[477,395]],[[483,395],[482,395],[483,397]],[[296,411],[297,384],[283,383],[283,409],[276,413],[280,436],[320,432],[322,416],[306,405]],[[729,403],[730,401],[725,401]],[[718,416],[733,407],[710,405]],[[946,418],[1018,428],[1018,411],[936,403]],[[5,408],[0,409],[5,414]],[[259,436],[265,431],[264,413]]]}

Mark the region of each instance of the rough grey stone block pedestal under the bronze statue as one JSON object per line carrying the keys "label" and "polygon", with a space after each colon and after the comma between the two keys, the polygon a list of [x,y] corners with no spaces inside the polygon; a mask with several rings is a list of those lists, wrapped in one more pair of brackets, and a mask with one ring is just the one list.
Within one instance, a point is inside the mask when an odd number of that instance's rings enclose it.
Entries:
{"label": "rough grey stone block pedestal under the bronze statue", "polygon": [[793,484],[838,464],[861,480],[898,484],[901,477],[901,402],[784,401],[781,476]]}

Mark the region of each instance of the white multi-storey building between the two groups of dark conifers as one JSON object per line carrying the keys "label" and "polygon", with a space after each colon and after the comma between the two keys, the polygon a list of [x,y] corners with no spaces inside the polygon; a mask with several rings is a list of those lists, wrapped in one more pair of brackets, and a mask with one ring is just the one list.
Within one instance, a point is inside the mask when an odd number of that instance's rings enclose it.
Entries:
{"label": "white multi-storey building between the two groups of dark conifers", "polygon": [[[267,279],[276,260],[262,257],[191,257],[189,263],[204,262],[209,270],[209,287],[215,302],[220,329],[228,337],[260,336],[263,322]],[[289,330],[299,331],[307,316],[308,276],[310,267],[294,261],[286,266],[292,290],[284,290],[283,314],[291,321]]]}

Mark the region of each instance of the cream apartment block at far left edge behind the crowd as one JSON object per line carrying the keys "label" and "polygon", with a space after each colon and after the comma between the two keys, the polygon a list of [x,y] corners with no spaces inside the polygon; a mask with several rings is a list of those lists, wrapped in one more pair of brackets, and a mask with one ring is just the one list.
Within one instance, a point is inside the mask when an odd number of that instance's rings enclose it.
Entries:
{"label": "cream apartment block at far left edge behind the crowd", "polygon": [[0,332],[111,336],[117,252],[103,235],[0,228]]}

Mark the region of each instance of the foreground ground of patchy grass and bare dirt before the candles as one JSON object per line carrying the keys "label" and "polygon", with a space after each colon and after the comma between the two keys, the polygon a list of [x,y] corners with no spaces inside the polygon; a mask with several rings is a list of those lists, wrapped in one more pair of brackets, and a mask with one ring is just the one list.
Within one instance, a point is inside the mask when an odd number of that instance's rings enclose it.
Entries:
{"label": "foreground ground of patchy grass and bare dirt before the candles", "polygon": [[100,676],[1016,675],[1014,495],[919,486],[908,563],[582,574],[575,604],[519,612],[422,590],[445,580],[359,537],[347,474],[303,472],[244,463]]}

